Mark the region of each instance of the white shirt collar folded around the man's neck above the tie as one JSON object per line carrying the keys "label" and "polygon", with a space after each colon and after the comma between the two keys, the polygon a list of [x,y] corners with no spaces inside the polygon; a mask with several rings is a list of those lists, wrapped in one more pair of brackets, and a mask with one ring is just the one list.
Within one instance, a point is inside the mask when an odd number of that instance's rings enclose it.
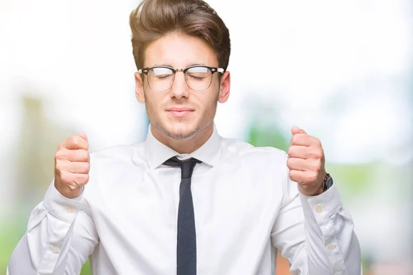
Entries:
{"label": "white shirt collar folded around the man's neck above the tie", "polygon": [[[194,157],[211,166],[216,166],[220,162],[221,158],[221,137],[218,135],[215,123],[213,124],[213,133],[211,137],[202,144],[200,148],[190,154],[184,154],[187,157]],[[162,144],[157,140],[151,132],[151,124],[147,132],[147,138],[145,140],[145,157],[151,169],[157,168],[160,164],[163,164],[167,159],[171,157],[180,156],[178,152],[169,148],[165,144]]]}

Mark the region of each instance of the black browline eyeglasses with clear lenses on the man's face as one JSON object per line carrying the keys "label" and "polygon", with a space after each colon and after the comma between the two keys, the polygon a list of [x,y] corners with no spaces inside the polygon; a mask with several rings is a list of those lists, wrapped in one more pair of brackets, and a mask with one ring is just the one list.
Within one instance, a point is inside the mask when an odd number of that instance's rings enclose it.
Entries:
{"label": "black browline eyeglasses with clear lenses on the man's face", "polygon": [[209,88],[212,83],[212,76],[215,72],[224,73],[224,69],[193,65],[184,69],[175,69],[168,66],[153,66],[139,69],[140,74],[146,74],[148,84],[153,91],[167,91],[171,89],[175,80],[176,72],[183,72],[185,82],[188,87],[195,91],[203,91]]}

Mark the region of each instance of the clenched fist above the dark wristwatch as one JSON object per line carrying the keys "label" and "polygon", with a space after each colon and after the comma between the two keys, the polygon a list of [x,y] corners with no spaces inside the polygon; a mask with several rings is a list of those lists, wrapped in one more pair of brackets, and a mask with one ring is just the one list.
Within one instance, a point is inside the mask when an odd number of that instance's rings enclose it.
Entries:
{"label": "clenched fist above the dark wristwatch", "polygon": [[302,194],[319,195],[323,192],[323,181],[326,177],[321,142],[297,126],[291,129],[291,133],[293,137],[287,159],[290,179],[298,183],[298,189]]}

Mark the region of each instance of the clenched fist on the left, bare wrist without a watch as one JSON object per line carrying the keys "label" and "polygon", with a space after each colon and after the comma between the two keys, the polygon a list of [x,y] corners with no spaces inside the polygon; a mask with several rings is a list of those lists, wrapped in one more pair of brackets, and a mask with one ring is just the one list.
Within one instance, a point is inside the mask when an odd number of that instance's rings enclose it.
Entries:
{"label": "clenched fist on the left, bare wrist without a watch", "polygon": [[54,187],[61,195],[73,199],[81,195],[89,181],[89,143],[84,133],[61,142],[54,157]]}

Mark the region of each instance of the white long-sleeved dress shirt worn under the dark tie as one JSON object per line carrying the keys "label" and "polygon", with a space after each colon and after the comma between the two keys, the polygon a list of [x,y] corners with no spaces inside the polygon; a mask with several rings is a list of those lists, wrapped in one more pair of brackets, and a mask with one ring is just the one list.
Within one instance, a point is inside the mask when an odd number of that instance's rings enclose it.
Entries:
{"label": "white long-sleeved dress shirt worn under the dark tie", "polygon": [[333,184],[315,197],[291,181],[284,151],[254,147],[214,131],[191,154],[156,140],[91,153],[89,182],[80,197],[54,188],[32,210],[8,274],[176,274],[180,168],[195,157],[191,190],[197,274],[269,275],[279,249],[292,274],[361,274],[350,214]]}

